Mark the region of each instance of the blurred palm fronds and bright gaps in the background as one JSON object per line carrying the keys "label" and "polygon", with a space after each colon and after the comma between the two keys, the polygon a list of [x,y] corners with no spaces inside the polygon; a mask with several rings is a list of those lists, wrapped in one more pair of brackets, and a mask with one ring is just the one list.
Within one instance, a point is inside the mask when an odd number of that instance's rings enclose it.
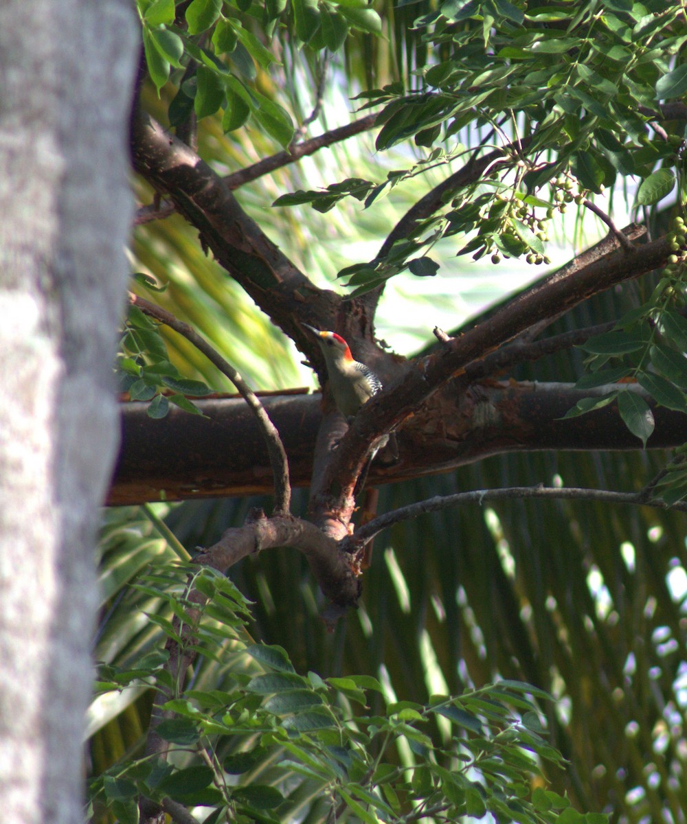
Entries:
{"label": "blurred palm fronds and bright gaps in the background", "polygon": [[[622,2],[607,3],[610,7]],[[368,87],[413,74],[429,58],[412,21],[431,11],[431,2],[374,4],[382,38],[353,32],[345,50],[330,55],[319,114],[308,136],[348,122],[350,98]],[[277,30],[282,64],[256,83],[302,122],[315,105],[321,55],[296,44],[289,30]],[[143,104],[162,123],[175,89],[152,84]],[[469,143],[470,134],[464,135]],[[229,174],[280,150],[254,127],[223,133],[218,117],[203,119],[198,152],[215,170]],[[374,135],[362,134],[242,186],[237,197],[294,264],[318,286],[339,288],[336,272],[369,260],[412,204],[446,174],[440,167],[394,188],[374,208],[346,199],[326,215],[307,206],[271,208],[286,192],[326,186],[343,177],[382,178],[418,157],[412,144],[389,152],[374,150]],[[457,167],[457,166],[454,166]],[[153,194],[134,181],[140,204]],[[609,202],[622,223],[623,193]],[[554,262],[569,259],[574,216],[555,230],[561,249]],[[600,235],[595,223],[578,234],[578,248]],[[441,273],[420,283],[412,275],[394,279],[376,317],[380,338],[412,356],[430,339],[433,325],[458,327],[490,302],[497,302],[539,269],[508,260],[492,266],[443,255]],[[132,271],[168,283],[158,302],[190,322],[257,389],[313,386],[299,353],[250,298],[205,255],[193,227],[178,216],[136,228]],[[419,285],[418,285],[419,283]],[[135,288],[135,287],[134,287]],[[547,331],[593,325],[619,316],[646,297],[651,284],[639,281],[586,302]],[[144,297],[148,297],[144,293]],[[230,391],[224,377],[185,340],[164,330],[173,362],[186,377]],[[581,354],[560,353],[514,377],[540,382],[574,382]],[[563,484],[638,490],[665,464],[656,452],[514,453],[492,457],[459,471],[381,489],[384,512],[436,494],[497,486]],[[243,522],[250,508],[269,510],[270,501],[235,499],[158,504],[176,538],[190,551],[209,545],[221,532]],[[296,495],[294,513],[304,514],[307,496]],[[145,612],[166,606],[129,589],[140,574],[164,568],[175,552],[144,508],[104,513],[100,546],[101,626],[97,660],[129,666],[154,655],[162,633]],[[304,559],[275,550],[230,570],[252,601],[252,634],[280,644],[299,672],[322,677],[369,673],[388,695],[426,701],[436,692],[459,693],[496,677],[517,678],[551,691],[548,708],[553,744],[569,760],[550,775],[554,789],[568,792],[580,808],[605,810],[627,822],[684,822],[687,810],[687,573],[684,516],[650,508],[610,508],[599,503],[504,502],[470,506],[405,522],[380,536],[365,573],[360,609],[333,634],[318,617],[322,596]],[[200,659],[193,678],[221,687],[226,672]],[[150,712],[143,689],[97,699],[89,719],[90,768],[98,774],[138,751]]]}

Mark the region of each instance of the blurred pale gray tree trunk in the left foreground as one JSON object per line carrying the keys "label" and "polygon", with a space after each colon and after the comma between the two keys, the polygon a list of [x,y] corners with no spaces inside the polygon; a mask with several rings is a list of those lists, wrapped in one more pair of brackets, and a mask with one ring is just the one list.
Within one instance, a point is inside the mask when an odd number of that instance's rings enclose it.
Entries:
{"label": "blurred pale gray tree trunk in the left foreground", "polygon": [[82,818],[136,42],[129,0],[0,4],[0,817],[9,824]]}

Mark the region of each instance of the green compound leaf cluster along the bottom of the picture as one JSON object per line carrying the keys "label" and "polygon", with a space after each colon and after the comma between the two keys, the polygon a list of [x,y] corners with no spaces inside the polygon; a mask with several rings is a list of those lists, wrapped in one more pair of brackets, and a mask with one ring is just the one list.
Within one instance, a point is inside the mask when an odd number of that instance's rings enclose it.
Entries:
{"label": "green compound leaf cluster along the bottom of the picture", "polygon": [[[207,598],[204,606],[189,602],[191,586]],[[149,616],[167,638],[225,663],[228,654],[252,659],[253,674],[233,667],[227,689],[181,688],[165,655],[102,665],[103,694],[143,684],[172,696],[156,727],[172,758],[113,765],[92,780],[92,811],[136,824],[143,795],[209,807],[206,821],[276,824],[317,796],[318,820],[336,811],[337,819],[369,824],[487,812],[525,824],[606,821],[543,789],[540,765],[560,765],[562,756],[546,740],[537,702],[549,696],[539,689],[498,681],[459,696],[432,695],[426,704],[389,700],[374,677],[302,676],[283,648],[252,643],[246,599],[212,570],[166,566],[134,588],[176,616]],[[370,710],[371,694],[383,697],[383,712]]]}

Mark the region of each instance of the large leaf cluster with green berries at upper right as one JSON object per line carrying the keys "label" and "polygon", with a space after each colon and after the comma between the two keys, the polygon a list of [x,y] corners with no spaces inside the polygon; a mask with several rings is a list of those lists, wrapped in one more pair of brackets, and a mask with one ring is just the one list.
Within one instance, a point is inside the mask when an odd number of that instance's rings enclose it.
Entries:
{"label": "large leaf cluster with green berries at upper right", "polygon": [[[682,187],[681,135],[651,125],[661,119],[661,101],[687,87],[679,7],[659,0],[584,7],[449,0],[414,26],[435,62],[418,69],[412,83],[359,95],[364,107],[382,106],[376,147],[413,140],[429,150],[404,177],[463,156],[466,143],[477,143],[473,159],[487,148],[497,156],[418,215],[404,237],[414,246],[402,265],[395,261],[383,273],[379,265],[359,265],[351,286],[374,288],[402,271],[417,246],[453,235],[463,237],[459,254],[476,260],[524,256],[540,264],[554,210],[582,204],[619,177],[638,180],[638,205],[656,204],[676,182]],[[366,206],[388,182],[369,187]],[[345,194],[360,197],[360,190],[330,186],[277,203],[332,208]]]}

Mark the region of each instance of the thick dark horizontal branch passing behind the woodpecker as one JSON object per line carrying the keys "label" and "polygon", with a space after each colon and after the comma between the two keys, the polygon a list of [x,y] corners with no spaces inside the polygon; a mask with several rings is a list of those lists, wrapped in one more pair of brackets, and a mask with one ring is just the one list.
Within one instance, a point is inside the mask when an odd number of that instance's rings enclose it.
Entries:
{"label": "thick dark horizontal branch passing behind the woodpecker", "polygon": [[[519,345],[514,344],[515,356]],[[501,350],[487,358],[496,368]],[[487,358],[474,362],[468,374],[474,368],[474,377],[481,377],[477,372]],[[578,400],[590,395],[591,391],[576,390],[572,384],[489,380],[466,389],[463,379],[449,381],[399,431],[399,460],[385,465],[378,458],[368,483],[391,484],[454,471],[505,452],[637,449],[638,438],[628,432],[614,404],[579,418],[561,419]],[[656,406],[644,397],[656,419],[647,447],[666,449],[687,441],[687,415]],[[264,396],[261,401],[284,440],[291,484],[308,486],[312,478],[313,493],[323,494],[325,461],[313,471],[322,421],[320,396]],[[269,456],[246,404],[241,399],[195,403],[204,417],[175,407],[166,418],[153,420],[144,403],[122,405],[122,447],[109,503],[156,501],[163,492],[170,500],[271,493]],[[332,433],[332,438],[341,436],[342,432]],[[330,447],[327,438],[322,447],[327,459]],[[318,520],[318,526],[324,522]],[[332,522],[329,534],[339,539],[337,529],[341,529],[338,520]]]}

